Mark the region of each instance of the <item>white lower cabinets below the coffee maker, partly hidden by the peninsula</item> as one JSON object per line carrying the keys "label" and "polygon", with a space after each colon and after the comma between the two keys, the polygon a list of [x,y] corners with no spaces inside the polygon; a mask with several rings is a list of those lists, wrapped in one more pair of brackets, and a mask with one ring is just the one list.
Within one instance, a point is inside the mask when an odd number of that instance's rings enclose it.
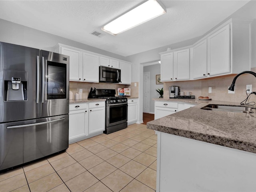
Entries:
{"label": "white lower cabinets below the coffee maker, partly hidden by the peninsula", "polygon": [[155,101],[155,119],[196,106],[186,102]]}

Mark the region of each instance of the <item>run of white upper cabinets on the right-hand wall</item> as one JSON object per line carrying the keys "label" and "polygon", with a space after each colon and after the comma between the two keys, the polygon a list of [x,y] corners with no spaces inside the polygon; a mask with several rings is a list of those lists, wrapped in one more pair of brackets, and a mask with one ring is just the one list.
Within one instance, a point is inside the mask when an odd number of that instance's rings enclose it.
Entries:
{"label": "run of white upper cabinets on the right-hand wall", "polygon": [[161,81],[195,80],[251,70],[251,23],[248,19],[230,19],[190,47],[160,53]]}

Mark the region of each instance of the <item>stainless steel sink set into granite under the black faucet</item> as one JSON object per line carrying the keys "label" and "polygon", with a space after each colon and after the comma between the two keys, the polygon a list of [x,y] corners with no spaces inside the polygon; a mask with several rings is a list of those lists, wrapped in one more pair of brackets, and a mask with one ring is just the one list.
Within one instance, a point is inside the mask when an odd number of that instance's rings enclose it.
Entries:
{"label": "stainless steel sink set into granite under the black faucet", "polygon": [[230,106],[230,105],[218,105],[218,104],[209,104],[206,105],[204,107],[202,107],[201,109],[204,110],[212,110],[212,111],[226,111],[226,112],[237,112],[237,113],[254,113],[252,111],[252,107],[245,107],[245,106],[240,106],[240,105],[236,105],[236,106]]}

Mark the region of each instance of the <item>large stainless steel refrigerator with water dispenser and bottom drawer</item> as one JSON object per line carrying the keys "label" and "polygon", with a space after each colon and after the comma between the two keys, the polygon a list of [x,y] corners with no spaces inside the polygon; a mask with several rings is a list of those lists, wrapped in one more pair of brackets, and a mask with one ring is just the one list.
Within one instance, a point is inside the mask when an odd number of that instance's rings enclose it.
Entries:
{"label": "large stainless steel refrigerator with water dispenser and bottom drawer", "polygon": [[68,148],[69,56],[0,42],[0,170]]}

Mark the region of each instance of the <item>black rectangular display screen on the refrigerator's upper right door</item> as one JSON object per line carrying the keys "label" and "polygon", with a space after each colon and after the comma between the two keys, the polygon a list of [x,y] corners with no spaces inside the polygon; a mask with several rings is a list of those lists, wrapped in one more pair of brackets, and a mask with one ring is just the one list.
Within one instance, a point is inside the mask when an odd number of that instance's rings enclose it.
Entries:
{"label": "black rectangular display screen on the refrigerator's upper right door", "polygon": [[47,61],[47,99],[65,99],[66,64]]}

